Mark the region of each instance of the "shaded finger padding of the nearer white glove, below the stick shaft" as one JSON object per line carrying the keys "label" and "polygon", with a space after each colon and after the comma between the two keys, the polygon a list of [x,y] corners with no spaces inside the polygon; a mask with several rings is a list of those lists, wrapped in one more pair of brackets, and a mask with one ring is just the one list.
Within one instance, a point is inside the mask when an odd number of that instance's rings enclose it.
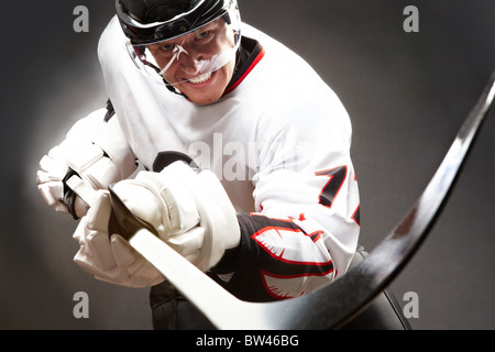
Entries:
{"label": "shaded finger padding of the nearer white glove, below the stick shaft", "polygon": [[95,202],[74,233],[80,249],[74,261],[96,278],[127,287],[147,287],[165,278],[119,234],[109,235],[108,190],[97,190]]}

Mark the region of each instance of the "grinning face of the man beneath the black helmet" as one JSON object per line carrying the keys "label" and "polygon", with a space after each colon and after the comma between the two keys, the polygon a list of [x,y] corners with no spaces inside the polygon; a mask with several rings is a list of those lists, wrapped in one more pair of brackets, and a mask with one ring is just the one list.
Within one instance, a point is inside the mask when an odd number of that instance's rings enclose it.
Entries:
{"label": "grinning face of the man beneath the black helmet", "polygon": [[222,19],[147,46],[165,80],[201,106],[220,99],[229,85],[235,64],[233,47],[234,33]]}

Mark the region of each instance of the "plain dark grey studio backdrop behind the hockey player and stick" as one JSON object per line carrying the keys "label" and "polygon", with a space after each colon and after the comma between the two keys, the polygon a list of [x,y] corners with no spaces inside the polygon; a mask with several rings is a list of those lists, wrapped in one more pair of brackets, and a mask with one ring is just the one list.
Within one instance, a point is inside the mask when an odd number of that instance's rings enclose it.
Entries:
{"label": "plain dark grey studio backdrop behind the hockey player and stick", "polygon": [[[75,33],[73,10],[89,10]],[[403,10],[419,9],[419,33]],[[437,169],[495,69],[495,2],[240,0],[242,18],[321,74],[352,118],[361,242],[371,251]],[[0,328],[150,329],[147,289],[95,280],[72,258],[76,227],[37,194],[37,162],[78,118],[105,105],[96,47],[112,0],[15,2],[1,21]],[[290,75],[290,73],[287,73]],[[311,89],[294,81],[295,89]],[[276,87],[274,87],[276,89]],[[419,296],[415,329],[494,329],[495,117],[490,116],[442,217],[393,283]],[[89,319],[73,296],[89,295]]]}

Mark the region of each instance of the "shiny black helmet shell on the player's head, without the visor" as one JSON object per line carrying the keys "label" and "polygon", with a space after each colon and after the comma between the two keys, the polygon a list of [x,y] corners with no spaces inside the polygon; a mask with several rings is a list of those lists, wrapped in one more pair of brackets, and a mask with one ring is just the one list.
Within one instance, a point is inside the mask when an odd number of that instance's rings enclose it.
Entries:
{"label": "shiny black helmet shell on the player's head, without the visor", "polygon": [[132,44],[152,44],[195,31],[228,13],[235,0],[116,0]]}

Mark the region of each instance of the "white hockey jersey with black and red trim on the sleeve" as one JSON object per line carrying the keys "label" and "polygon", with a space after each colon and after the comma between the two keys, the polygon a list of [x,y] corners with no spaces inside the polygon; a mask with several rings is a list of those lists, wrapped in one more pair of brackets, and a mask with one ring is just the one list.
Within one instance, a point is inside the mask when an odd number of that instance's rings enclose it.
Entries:
{"label": "white hockey jersey with black and red trim on the sleeve", "polygon": [[125,139],[147,169],[170,152],[213,170],[239,212],[242,245],[220,274],[240,298],[297,297],[345,273],[360,232],[351,123],[336,94],[286,46],[257,44],[226,95],[197,106],[143,75],[113,19],[98,54]]}

